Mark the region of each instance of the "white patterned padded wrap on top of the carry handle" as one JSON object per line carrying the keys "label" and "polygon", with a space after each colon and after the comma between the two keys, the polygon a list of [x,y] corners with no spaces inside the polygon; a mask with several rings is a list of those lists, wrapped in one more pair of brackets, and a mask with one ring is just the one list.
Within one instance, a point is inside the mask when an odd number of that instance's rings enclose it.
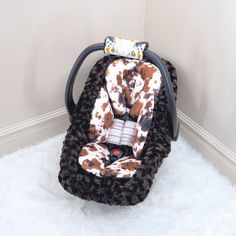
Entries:
{"label": "white patterned padded wrap on top of the carry handle", "polygon": [[147,42],[108,36],[105,39],[104,52],[141,60],[147,47]]}

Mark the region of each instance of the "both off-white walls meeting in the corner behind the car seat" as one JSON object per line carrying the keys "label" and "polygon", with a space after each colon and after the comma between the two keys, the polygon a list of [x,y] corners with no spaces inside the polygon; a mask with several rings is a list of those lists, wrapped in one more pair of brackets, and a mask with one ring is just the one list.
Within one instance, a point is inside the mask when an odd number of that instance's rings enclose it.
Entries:
{"label": "both off-white walls meeting in the corner behind the car seat", "polygon": [[[81,50],[117,35],[146,39],[170,59],[179,75],[178,108],[236,152],[235,7],[233,0],[1,1],[0,136],[5,127],[63,107]],[[83,66],[75,97],[100,55]]]}

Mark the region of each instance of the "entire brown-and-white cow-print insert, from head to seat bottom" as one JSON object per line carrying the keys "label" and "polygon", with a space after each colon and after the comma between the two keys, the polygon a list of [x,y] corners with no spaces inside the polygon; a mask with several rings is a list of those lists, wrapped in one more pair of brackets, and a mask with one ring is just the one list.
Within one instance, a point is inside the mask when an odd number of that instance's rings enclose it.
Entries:
{"label": "entire brown-and-white cow-print insert, from head to seat bottom", "polygon": [[[90,142],[83,146],[78,161],[98,177],[131,178],[141,166],[161,74],[149,62],[121,58],[107,67],[104,76],[106,84],[92,110]],[[112,161],[113,146],[128,151]]]}

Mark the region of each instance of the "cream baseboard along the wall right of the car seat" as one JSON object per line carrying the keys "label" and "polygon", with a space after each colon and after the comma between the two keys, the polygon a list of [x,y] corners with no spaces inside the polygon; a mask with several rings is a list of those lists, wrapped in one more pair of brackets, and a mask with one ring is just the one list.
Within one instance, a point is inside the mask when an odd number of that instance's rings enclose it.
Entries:
{"label": "cream baseboard along the wall right of the car seat", "polygon": [[209,132],[178,110],[180,133],[232,183],[236,183],[236,154]]}

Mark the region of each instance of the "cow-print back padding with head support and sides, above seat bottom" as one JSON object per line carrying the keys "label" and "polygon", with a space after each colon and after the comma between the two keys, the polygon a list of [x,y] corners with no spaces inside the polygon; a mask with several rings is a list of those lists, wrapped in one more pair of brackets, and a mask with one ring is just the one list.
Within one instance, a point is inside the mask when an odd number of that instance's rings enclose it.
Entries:
{"label": "cow-print back padding with head support and sides, above seat bottom", "polygon": [[96,143],[106,142],[114,116],[128,111],[137,119],[133,154],[139,158],[161,85],[160,71],[149,62],[123,58],[107,67],[105,79],[106,85],[101,88],[92,111],[89,137]]}

